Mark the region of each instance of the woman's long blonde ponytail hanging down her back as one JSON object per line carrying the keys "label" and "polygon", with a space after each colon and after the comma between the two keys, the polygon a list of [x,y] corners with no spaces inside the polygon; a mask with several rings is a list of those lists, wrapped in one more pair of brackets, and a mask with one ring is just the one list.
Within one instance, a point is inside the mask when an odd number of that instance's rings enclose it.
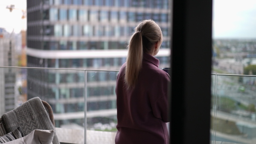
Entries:
{"label": "woman's long blonde ponytail hanging down her back", "polygon": [[135,32],[128,45],[128,56],[126,59],[125,83],[127,89],[133,89],[137,82],[143,60],[142,33]]}

